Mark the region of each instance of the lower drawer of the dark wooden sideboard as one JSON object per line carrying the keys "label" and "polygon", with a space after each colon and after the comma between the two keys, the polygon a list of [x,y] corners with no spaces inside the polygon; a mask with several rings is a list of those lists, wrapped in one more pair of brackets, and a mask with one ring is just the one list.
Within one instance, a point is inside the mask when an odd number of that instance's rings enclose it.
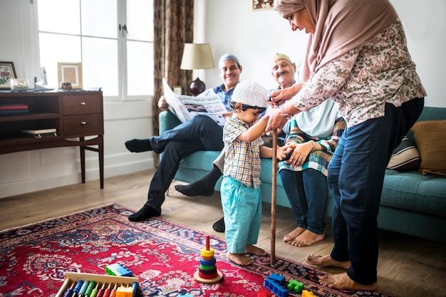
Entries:
{"label": "lower drawer of the dark wooden sideboard", "polygon": [[103,135],[100,113],[91,115],[66,115],[63,117],[63,137]]}

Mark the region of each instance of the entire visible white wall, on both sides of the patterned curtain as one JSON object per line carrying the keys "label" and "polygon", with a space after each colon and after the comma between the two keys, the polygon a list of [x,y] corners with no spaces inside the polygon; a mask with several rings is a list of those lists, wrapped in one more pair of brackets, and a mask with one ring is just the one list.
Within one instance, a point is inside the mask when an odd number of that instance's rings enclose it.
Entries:
{"label": "entire visible white wall, on both sides of the patterned curtain", "polygon": [[[446,107],[446,1],[391,0],[400,14],[408,47],[427,90],[426,105]],[[306,34],[293,32],[274,10],[252,11],[251,0],[195,0],[195,42],[211,43],[214,60],[236,54],[244,67],[242,79],[274,86],[270,74],[274,53],[294,61],[304,55]],[[39,77],[34,20],[30,0],[0,0],[0,61],[13,61],[19,77]],[[202,71],[208,87],[221,83],[217,68]],[[151,152],[131,154],[125,140],[152,134],[152,98],[107,102],[105,98],[105,177],[153,167]],[[76,147],[0,155],[0,197],[81,182]],[[87,180],[98,179],[98,157],[87,152]],[[99,187],[99,182],[98,182]]]}

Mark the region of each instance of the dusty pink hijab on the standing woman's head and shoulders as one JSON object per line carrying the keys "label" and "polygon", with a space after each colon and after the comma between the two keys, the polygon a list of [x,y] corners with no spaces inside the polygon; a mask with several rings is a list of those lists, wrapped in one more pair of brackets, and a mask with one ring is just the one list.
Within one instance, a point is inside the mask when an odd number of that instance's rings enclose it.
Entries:
{"label": "dusty pink hijab on the standing woman's head and shoulders", "polygon": [[398,18],[388,0],[274,0],[274,10],[284,18],[301,9],[307,9],[316,25],[314,34],[309,34],[304,81]]}

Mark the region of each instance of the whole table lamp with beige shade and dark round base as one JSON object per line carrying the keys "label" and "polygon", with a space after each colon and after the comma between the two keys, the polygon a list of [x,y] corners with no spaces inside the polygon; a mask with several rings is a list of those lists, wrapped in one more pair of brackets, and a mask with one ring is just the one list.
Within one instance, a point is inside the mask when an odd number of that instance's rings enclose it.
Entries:
{"label": "whole table lamp with beige shade and dark round base", "polygon": [[[211,69],[214,67],[214,58],[212,58],[209,43],[185,43],[180,66],[182,70]],[[198,77],[190,83],[192,95],[196,96],[204,90],[206,90],[206,85]]]}

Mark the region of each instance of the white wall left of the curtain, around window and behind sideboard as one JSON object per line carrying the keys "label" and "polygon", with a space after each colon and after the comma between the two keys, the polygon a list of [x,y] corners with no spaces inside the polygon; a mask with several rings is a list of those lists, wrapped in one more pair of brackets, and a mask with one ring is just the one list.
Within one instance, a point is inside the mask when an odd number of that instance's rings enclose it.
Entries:
{"label": "white wall left of the curtain, around window and behind sideboard", "polygon": [[[40,80],[30,0],[0,0],[0,61],[12,61],[20,78]],[[104,100],[104,175],[111,177],[154,167],[152,152],[130,153],[125,140],[152,135],[152,98]],[[99,179],[98,154],[86,152],[86,179]],[[0,155],[0,198],[81,182],[78,147]],[[99,189],[99,181],[97,184]]]}

